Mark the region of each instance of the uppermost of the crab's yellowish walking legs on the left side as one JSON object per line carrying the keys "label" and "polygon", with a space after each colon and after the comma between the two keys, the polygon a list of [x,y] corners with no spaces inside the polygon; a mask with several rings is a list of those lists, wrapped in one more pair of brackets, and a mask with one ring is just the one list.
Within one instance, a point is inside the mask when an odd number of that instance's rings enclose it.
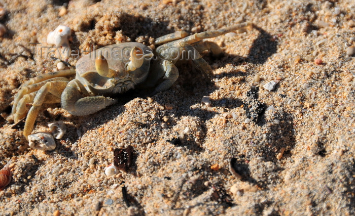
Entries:
{"label": "uppermost of the crab's yellowish walking legs on the left side", "polygon": [[75,75],[75,70],[68,69],[68,70],[60,70],[60,71],[56,71],[56,72],[52,72],[52,73],[46,73],[46,74],[39,75],[39,76],[29,79],[24,85],[22,85],[21,90],[16,94],[15,99],[14,99],[14,104],[12,105],[12,113],[15,113],[17,104],[18,104],[19,100],[24,95],[28,94],[29,92],[37,91],[42,86],[42,85],[37,85],[37,87],[39,87],[39,88],[36,90],[33,90],[33,89],[35,89],[34,86],[36,86],[33,84],[40,83],[40,82],[43,82],[45,80],[52,79],[55,77],[65,77],[65,76],[72,76],[72,75]]}

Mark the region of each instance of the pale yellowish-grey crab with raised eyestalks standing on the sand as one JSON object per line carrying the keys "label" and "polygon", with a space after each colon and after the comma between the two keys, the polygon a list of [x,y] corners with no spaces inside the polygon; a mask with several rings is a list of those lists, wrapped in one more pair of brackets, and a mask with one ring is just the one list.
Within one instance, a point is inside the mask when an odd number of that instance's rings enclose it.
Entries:
{"label": "pale yellowish-grey crab with raised eyestalks standing on the sand", "polygon": [[[60,103],[72,115],[89,115],[117,102],[115,95],[139,88],[151,88],[152,94],[165,91],[179,77],[174,65],[180,59],[191,59],[200,71],[212,75],[212,69],[200,53],[210,50],[220,56],[222,49],[205,38],[216,37],[250,23],[239,23],[218,30],[188,36],[177,31],[158,37],[151,50],[138,42],[124,42],[97,49],[84,55],[76,69],[59,70],[29,79],[16,94],[12,107],[14,121],[26,115],[23,135],[30,135],[44,103]],[[73,78],[75,75],[75,78]]]}

